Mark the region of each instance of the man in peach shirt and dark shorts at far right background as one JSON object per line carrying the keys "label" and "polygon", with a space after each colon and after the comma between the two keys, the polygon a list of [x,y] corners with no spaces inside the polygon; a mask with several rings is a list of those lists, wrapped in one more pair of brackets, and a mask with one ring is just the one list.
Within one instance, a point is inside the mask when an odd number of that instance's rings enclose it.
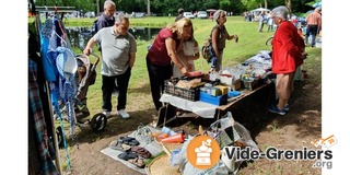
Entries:
{"label": "man in peach shirt and dark shorts at far right background", "polygon": [[311,36],[311,47],[315,46],[316,35],[319,33],[322,27],[320,8],[316,8],[314,12],[306,16],[306,44],[308,42],[308,36]]}

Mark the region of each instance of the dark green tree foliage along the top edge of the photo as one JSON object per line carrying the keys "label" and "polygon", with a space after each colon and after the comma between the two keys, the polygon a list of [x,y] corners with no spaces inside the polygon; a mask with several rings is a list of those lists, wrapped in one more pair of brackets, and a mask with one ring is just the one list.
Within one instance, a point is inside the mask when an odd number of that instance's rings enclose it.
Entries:
{"label": "dark green tree foliage along the top edge of the photo", "polygon": [[[36,5],[55,5],[59,7],[75,7],[82,12],[95,11],[100,2],[100,11],[103,11],[105,0],[36,0]],[[118,11],[147,12],[148,0],[113,0]],[[313,9],[310,4],[317,0],[150,0],[151,12],[158,15],[177,14],[177,9],[184,8],[185,11],[196,12],[207,9],[222,9],[233,14],[241,14],[246,10],[256,8],[273,9],[278,5],[287,5],[292,10],[292,13],[306,12]]]}

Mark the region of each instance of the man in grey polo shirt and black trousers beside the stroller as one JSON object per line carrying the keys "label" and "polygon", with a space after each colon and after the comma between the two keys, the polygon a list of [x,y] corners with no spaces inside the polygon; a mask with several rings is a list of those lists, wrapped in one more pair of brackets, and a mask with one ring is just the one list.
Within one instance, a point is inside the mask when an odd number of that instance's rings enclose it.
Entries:
{"label": "man in grey polo shirt and black trousers beside the stroller", "polygon": [[129,19],[118,15],[114,26],[100,30],[86,44],[85,55],[90,55],[93,46],[101,43],[102,48],[102,93],[103,112],[109,117],[112,110],[112,92],[115,81],[119,88],[118,114],[122,118],[129,118],[125,110],[127,104],[127,90],[135,62],[137,44],[135,37],[128,32]]}

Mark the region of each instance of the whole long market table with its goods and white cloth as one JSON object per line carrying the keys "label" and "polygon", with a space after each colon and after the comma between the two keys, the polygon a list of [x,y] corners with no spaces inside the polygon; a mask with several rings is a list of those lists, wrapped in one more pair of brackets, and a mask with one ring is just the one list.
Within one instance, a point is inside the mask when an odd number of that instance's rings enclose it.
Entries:
{"label": "whole long market table with its goods and white cloth", "polygon": [[241,100],[271,86],[270,70],[269,51],[261,50],[240,65],[224,68],[220,73],[168,80],[160,100],[166,105],[160,109],[158,126],[182,117],[179,113],[167,112],[168,105],[191,112],[197,117],[219,119]]}

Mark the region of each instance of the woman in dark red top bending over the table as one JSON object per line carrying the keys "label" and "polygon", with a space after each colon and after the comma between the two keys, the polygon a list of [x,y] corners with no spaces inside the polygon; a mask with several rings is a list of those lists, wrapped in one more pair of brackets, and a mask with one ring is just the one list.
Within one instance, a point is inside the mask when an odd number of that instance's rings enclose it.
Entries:
{"label": "woman in dark red top bending over the table", "polygon": [[[163,105],[160,102],[164,91],[164,81],[171,79],[172,63],[177,67],[183,74],[189,72],[190,65],[179,61],[178,51],[182,50],[182,43],[191,36],[192,23],[189,19],[183,18],[156,35],[152,46],[147,54],[147,69],[149,72],[152,98],[155,109]],[[185,62],[187,63],[187,62]]]}

